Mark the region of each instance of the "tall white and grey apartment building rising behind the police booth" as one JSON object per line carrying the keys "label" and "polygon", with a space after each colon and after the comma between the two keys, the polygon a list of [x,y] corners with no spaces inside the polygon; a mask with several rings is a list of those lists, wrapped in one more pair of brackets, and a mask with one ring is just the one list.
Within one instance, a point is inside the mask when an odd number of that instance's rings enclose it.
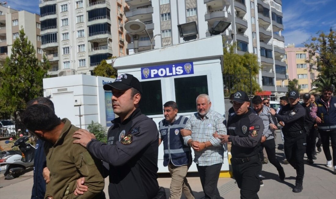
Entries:
{"label": "tall white and grey apartment building rising behind the police booth", "polygon": [[[238,54],[245,52],[258,56],[262,69],[257,81],[264,91],[272,95],[287,92],[287,87],[276,86],[276,80],[287,79],[284,37],[281,31],[281,0],[125,0],[129,11],[128,21],[140,20],[146,25],[149,36],[139,35],[139,52],[183,42],[177,25],[195,21],[197,38],[210,36],[209,29],[215,21],[223,20],[231,25],[224,35],[228,43],[237,42]],[[154,36],[153,42],[151,38]],[[133,39],[128,44],[134,53]],[[280,96],[281,96],[280,95]]]}

